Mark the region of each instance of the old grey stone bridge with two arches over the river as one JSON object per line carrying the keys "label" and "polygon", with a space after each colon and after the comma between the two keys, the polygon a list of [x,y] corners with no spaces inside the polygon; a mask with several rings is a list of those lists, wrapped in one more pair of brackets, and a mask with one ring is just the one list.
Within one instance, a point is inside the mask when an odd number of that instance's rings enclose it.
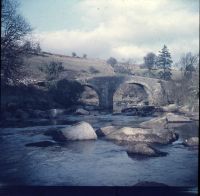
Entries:
{"label": "old grey stone bridge with two arches over the river", "polygon": [[137,84],[144,88],[148,95],[149,105],[164,105],[167,100],[164,96],[161,80],[141,76],[99,76],[87,79],[77,79],[83,86],[96,91],[99,97],[99,107],[102,110],[113,110],[113,96],[123,84]]}

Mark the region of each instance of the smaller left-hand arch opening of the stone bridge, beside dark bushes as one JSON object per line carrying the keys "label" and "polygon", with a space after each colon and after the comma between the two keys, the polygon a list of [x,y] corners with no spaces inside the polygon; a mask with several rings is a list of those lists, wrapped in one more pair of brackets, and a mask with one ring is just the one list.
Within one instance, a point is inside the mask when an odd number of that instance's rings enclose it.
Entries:
{"label": "smaller left-hand arch opening of the stone bridge, beside dark bushes", "polygon": [[99,94],[98,91],[90,85],[84,85],[84,91],[79,98],[81,104],[88,107],[99,107]]}

